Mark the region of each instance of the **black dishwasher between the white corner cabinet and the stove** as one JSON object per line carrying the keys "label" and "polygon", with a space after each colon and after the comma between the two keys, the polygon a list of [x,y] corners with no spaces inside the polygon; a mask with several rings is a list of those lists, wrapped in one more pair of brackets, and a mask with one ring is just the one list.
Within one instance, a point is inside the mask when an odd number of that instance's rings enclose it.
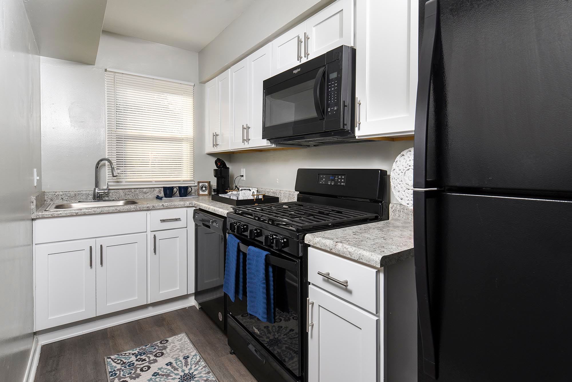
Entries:
{"label": "black dishwasher between the white corner cabinet and the stove", "polygon": [[227,304],[223,292],[227,249],[227,218],[195,209],[194,299],[219,328],[227,332]]}

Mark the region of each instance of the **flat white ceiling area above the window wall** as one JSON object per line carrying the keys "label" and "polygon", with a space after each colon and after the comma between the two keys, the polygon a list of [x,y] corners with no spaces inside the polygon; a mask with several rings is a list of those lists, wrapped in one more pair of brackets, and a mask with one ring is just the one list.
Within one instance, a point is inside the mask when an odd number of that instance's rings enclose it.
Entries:
{"label": "flat white ceiling area above the window wall", "polygon": [[200,51],[255,0],[108,0],[106,31]]}

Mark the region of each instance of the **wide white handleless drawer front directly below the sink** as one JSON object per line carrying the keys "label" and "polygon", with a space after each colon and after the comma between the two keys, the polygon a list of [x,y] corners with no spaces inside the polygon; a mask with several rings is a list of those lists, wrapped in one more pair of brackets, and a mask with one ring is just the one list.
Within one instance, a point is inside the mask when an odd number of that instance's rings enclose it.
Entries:
{"label": "wide white handleless drawer front directly below the sink", "polygon": [[35,221],[35,242],[69,241],[90,237],[147,232],[146,212],[57,217]]}

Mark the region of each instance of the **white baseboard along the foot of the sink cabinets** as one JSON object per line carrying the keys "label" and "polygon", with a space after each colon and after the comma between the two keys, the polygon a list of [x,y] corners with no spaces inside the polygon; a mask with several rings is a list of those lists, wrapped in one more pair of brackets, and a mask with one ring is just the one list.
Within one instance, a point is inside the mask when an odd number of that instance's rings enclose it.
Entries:
{"label": "white baseboard along the foot of the sink cabinets", "polygon": [[106,315],[101,318],[90,319],[79,324],[70,324],[65,328],[45,329],[36,333],[40,345],[50,344],[56,341],[65,340],[71,337],[81,336],[86,333],[98,331],[100,329],[114,327],[129,323],[131,321],[145,319],[146,317],[160,315],[162,313],[176,311],[177,309],[196,306],[194,293],[184,297],[178,297],[161,303],[144,305],[134,308],[124,313]]}

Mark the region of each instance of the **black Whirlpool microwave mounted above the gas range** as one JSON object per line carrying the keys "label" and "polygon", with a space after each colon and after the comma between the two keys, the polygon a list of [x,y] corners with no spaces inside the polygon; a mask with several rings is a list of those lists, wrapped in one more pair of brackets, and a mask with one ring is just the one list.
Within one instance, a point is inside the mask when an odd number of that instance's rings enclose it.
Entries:
{"label": "black Whirlpool microwave mounted above the gas range", "polygon": [[355,142],[355,64],[355,48],[342,45],[266,79],[262,137],[297,146]]}

